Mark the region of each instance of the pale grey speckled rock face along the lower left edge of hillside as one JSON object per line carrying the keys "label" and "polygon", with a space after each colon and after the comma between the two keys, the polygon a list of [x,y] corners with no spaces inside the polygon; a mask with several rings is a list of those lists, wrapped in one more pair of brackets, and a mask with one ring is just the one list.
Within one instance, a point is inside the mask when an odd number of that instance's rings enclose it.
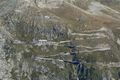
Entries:
{"label": "pale grey speckled rock face along the lower left edge of hillside", "polygon": [[0,79],[13,80],[11,71],[14,65],[12,59],[6,60],[6,53],[3,48],[5,42],[4,35],[2,31],[0,31]]}

